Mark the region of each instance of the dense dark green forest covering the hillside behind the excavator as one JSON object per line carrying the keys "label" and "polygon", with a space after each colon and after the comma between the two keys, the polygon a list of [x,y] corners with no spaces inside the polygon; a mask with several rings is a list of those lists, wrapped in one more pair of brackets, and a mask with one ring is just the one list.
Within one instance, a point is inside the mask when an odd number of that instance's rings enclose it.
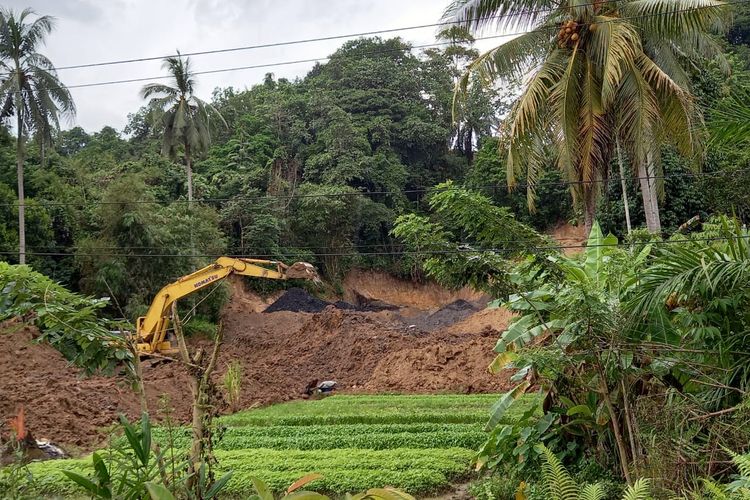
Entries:
{"label": "dense dark green forest covering the hillside behind the excavator", "polygon": [[[161,154],[163,130],[148,101],[122,131],[74,127],[49,144],[36,134],[26,160],[29,262],[74,290],[112,295],[132,318],[161,285],[223,254],[309,260],[332,281],[355,265],[414,274],[413,259],[399,255],[393,222],[423,211],[425,195],[449,179],[539,230],[580,221],[571,186],[551,161],[535,210],[523,179],[507,188],[496,136],[517,86],[474,86],[453,120],[454,84],[477,51],[465,30],[441,36],[445,45],[419,52],[401,39],[346,42],[304,78],[268,74],[246,90],[214,90],[210,105],[223,120],[210,124],[211,143],[193,161],[192,204],[184,148]],[[730,56],[729,79],[718,65],[693,68],[705,109],[745,78],[743,50]],[[12,263],[18,226],[9,128],[0,138],[0,247]],[[696,165],[665,148],[665,233],[695,215],[749,217],[749,155],[715,147]],[[617,177],[606,181],[597,217],[623,235]],[[638,226],[637,181],[627,185]]]}

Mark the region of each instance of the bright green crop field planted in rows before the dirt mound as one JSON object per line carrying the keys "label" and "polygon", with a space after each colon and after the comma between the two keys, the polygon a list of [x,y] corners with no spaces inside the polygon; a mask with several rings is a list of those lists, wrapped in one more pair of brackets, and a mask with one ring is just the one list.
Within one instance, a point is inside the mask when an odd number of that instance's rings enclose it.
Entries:
{"label": "bright green crop field planted in rows before the dirt mound", "polygon": [[[252,493],[250,476],[276,491],[299,477],[323,475],[308,489],[343,494],[393,486],[415,495],[447,488],[470,475],[471,458],[496,395],[332,396],[222,417],[218,473],[234,471],[226,493]],[[519,410],[520,411],[520,410]],[[508,418],[513,418],[512,416]],[[187,428],[154,430],[157,442],[186,449]],[[39,494],[75,495],[61,470],[90,472],[90,459],[35,463]]]}

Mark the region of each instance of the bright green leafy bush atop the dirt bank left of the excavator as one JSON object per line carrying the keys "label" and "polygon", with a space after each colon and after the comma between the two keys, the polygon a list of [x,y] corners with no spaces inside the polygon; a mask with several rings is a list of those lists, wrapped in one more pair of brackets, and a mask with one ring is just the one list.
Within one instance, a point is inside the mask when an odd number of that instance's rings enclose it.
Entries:
{"label": "bright green leafy bush atop the dirt bank left of the excavator", "polygon": [[111,372],[132,354],[125,339],[112,333],[122,325],[97,314],[107,299],[70,292],[27,266],[0,262],[0,321],[21,317],[35,324],[49,342],[87,373]]}

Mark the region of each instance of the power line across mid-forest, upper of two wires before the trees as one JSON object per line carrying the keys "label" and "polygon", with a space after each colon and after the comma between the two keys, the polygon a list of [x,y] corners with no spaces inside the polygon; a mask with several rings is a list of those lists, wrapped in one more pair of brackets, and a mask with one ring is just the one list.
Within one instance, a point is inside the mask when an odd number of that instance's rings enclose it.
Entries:
{"label": "power line across mid-forest, upper of two wires before the trees", "polygon": [[[722,170],[719,172],[686,172],[682,174],[665,174],[665,175],[650,175],[650,176],[634,176],[626,177],[625,180],[639,181],[643,179],[654,179],[654,180],[667,180],[667,179],[679,179],[679,178],[701,178],[701,177],[724,177],[728,175],[736,175],[741,173],[750,173],[750,168],[743,168],[737,170]],[[534,184],[538,186],[581,186],[581,185],[592,185],[592,184],[606,184],[622,181],[622,177],[609,177],[607,179],[591,179],[582,181],[540,181]],[[341,186],[347,187],[347,186]],[[512,189],[523,189],[529,187],[528,183],[522,182],[517,183]],[[288,195],[274,195],[274,194],[261,194],[258,196],[237,196],[232,198],[199,198],[192,202],[185,199],[178,200],[128,200],[128,201],[38,201],[34,200],[33,203],[26,203],[25,206],[96,206],[96,205],[172,205],[172,204],[222,204],[226,202],[234,201],[261,201],[261,200],[294,200],[298,198],[346,198],[356,196],[392,196],[392,195],[410,195],[410,194],[424,194],[424,193],[439,193],[444,191],[455,191],[466,189],[472,190],[507,190],[508,186],[503,184],[483,184],[479,186],[454,186],[438,188],[437,186],[427,188],[416,188],[416,189],[403,189],[403,190],[389,190],[389,191],[351,191],[346,193],[310,193],[310,194],[288,194]],[[0,207],[18,207],[18,202],[12,203],[0,203]],[[268,207],[274,209],[276,207]]]}

